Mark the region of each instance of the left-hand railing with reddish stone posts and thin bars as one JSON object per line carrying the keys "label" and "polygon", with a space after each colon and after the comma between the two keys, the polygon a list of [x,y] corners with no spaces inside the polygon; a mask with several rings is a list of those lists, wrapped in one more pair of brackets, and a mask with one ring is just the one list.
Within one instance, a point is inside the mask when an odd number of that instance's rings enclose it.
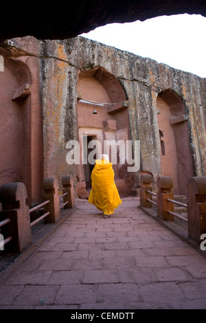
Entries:
{"label": "left-hand railing with reddish stone posts and thin bars", "polygon": [[[45,220],[44,223],[56,223],[60,219],[62,208],[73,208],[75,204],[73,178],[62,177],[62,194],[58,194],[58,180],[49,177],[43,181],[43,201],[29,208],[26,204],[27,190],[24,183],[5,183],[0,187],[0,248],[6,252],[21,252],[32,242],[32,227]],[[60,205],[60,199],[63,203]],[[31,221],[32,212],[43,209],[44,214]],[[7,236],[5,239],[4,237]],[[3,237],[3,239],[2,239]]]}

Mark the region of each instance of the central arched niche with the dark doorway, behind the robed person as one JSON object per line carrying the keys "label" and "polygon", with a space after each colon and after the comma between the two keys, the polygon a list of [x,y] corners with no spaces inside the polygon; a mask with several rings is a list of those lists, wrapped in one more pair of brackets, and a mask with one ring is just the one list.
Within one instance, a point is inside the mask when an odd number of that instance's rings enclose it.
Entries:
{"label": "central arched niche with the dark doorway, behind the robed person", "polygon": [[[98,140],[100,153],[104,152],[104,141],[129,139],[128,135],[128,102],[122,85],[117,78],[103,67],[80,71],[76,86],[78,93],[78,134],[80,150],[82,146]],[[96,113],[94,113],[94,111]],[[87,139],[85,140],[85,137]],[[84,141],[85,140],[85,141]],[[84,144],[82,143],[84,141]],[[112,151],[109,155],[112,160]],[[89,154],[89,150],[88,150]],[[117,162],[113,163],[115,181],[120,194],[128,194],[132,188],[128,181],[125,164],[119,164],[119,146],[117,146]],[[82,164],[78,168],[80,181],[86,182],[86,188],[91,187],[91,171],[93,165]]]}

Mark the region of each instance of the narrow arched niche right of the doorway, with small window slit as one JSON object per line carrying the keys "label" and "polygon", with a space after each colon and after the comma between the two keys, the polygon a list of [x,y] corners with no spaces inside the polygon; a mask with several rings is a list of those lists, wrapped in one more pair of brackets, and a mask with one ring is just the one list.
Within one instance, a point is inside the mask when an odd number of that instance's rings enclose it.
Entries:
{"label": "narrow arched niche right of the doorway, with small window slit", "polygon": [[193,175],[188,117],[181,98],[171,89],[157,96],[157,116],[161,145],[161,175],[171,176],[174,194],[186,195]]}

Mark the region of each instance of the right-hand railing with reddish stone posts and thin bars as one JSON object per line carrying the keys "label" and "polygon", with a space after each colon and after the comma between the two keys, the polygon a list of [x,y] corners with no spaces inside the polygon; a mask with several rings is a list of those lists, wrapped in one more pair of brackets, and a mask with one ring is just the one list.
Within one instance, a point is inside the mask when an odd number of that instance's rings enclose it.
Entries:
{"label": "right-hand railing with reddish stone posts and thin bars", "polygon": [[[188,236],[200,243],[201,235],[206,234],[206,177],[191,177],[187,182],[187,204],[174,199],[173,183],[169,176],[157,178],[157,193],[152,191],[152,175],[143,174],[140,179],[140,206],[144,209],[155,205],[157,216],[163,221],[179,218],[187,223]],[[152,196],[157,201],[152,200]],[[174,212],[174,204],[186,210],[187,216]],[[178,208],[176,208],[178,210]],[[183,212],[184,213],[184,212]]]}

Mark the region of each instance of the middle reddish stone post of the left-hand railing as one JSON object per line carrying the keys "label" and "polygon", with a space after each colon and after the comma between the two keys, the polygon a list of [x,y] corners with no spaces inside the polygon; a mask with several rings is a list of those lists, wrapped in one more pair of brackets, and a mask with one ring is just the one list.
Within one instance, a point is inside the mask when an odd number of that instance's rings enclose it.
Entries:
{"label": "middle reddish stone post of the left-hand railing", "polygon": [[56,177],[45,178],[43,181],[43,202],[49,200],[44,205],[44,212],[49,212],[45,217],[45,223],[54,223],[60,219],[60,203],[58,195],[58,179]]}

